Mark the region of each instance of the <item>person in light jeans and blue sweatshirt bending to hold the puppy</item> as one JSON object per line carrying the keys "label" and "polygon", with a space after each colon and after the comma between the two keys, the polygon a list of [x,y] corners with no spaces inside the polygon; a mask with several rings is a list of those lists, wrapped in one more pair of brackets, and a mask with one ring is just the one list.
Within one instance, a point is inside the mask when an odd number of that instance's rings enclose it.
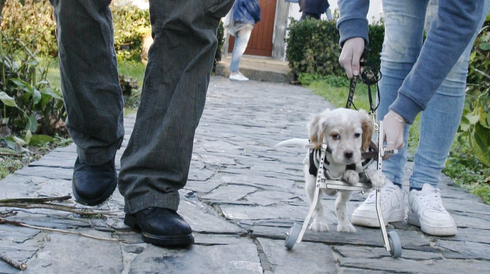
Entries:
{"label": "person in light jeans and blue sweatshirt bending to hold the puppy", "polygon": [[[439,0],[437,15],[424,34],[429,0],[383,0],[384,42],[377,117],[384,121],[386,149],[399,153],[383,162],[387,183],[381,190],[386,223],[404,219],[403,167],[409,124],[420,116],[420,137],[409,178],[408,223],[436,236],[456,234],[437,183],[449,155],[464,104],[469,53],[488,12],[489,0]],[[339,62],[347,77],[358,75],[368,43],[368,0],[339,0],[342,48]],[[375,192],[352,214],[351,222],[378,227]]]}

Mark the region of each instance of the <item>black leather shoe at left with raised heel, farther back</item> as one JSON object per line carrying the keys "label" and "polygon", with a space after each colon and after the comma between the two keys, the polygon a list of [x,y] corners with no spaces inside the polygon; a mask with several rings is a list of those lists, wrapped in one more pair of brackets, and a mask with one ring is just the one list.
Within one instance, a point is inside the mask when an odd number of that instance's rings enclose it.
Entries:
{"label": "black leather shoe at left with raised heel, farther back", "polygon": [[73,168],[73,196],[78,203],[96,206],[112,195],[117,186],[114,158],[105,164],[81,164],[76,158]]}

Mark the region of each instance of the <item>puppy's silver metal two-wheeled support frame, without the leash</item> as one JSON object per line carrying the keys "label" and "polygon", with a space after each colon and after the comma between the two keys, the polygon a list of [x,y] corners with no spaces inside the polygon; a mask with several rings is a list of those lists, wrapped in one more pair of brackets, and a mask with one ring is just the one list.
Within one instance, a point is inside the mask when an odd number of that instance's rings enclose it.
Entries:
{"label": "puppy's silver metal two-wheeled support frame, without the leash", "polygon": [[[383,122],[379,121],[379,135],[383,135]],[[396,154],[397,150],[385,150],[383,148],[382,138],[378,138],[378,156],[377,156],[377,170],[381,171],[382,168],[382,157],[389,154]],[[306,148],[312,148],[312,145],[307,145]],[[320,161],[318,165],[318,173],[316,175],[316,185],[313,202],[309,207],[308,214],[304,219],[302,225],[298,223],[294,223],[289,233],[286,233],[286,240],[284,242],[284,246],[287,249],[292,249],[294,244],[301,243],[303,235],[306,231],[306,228],[309,225],[309,221],[313,216],[313,212],[316,206],[316,202],[320,197],[320,189],[334,189],[334,190],[349,190],[349,191],[358,191],[358,192],[367,192],[371,190],[371,184],[368,180],[360,181],[356,184],[349,184],[340,180],[328,180],[324,176],[323,162],[326,154],[326,144],[323,144],[320,148]],[[381,189],[376,188],[376,213],[379,220],[379,227],[381,228],[381,233],[383,237],[384,247],[387,252],[391,254],[393,258],[398,258],[401,256],[401,243],[398,237],[398,234],[395,231],[386,231],[386,227],[384,226],[384,218],[381,211]]]}

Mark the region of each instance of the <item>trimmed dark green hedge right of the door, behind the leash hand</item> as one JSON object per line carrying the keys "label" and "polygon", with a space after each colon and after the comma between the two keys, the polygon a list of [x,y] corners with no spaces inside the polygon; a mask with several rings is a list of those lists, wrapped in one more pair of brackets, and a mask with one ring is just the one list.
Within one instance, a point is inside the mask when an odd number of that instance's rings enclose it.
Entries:
{"label": "trimmed dark green hedge right of the door, behind the leash hand", "polygon": [[[289,67],[296,75],[312,73],[320,75],[343,75],[344,70],[338,64],[340,35],[334,21],[291,19],[286,38],[286,58]],[[379,68],[379,54],[384,36],[382,22],[369,26],[369,45],[365,59]]]}

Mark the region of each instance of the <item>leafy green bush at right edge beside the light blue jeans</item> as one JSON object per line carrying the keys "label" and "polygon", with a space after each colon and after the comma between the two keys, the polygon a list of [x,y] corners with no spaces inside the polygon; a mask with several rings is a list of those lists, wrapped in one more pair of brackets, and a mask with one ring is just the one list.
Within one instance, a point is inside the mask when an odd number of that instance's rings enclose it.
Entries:
{"label": "leafy green bush at right edge beside the light blue jeans", "polygon": [[466,101],[444,173],[490,204],[490,15],[469,59]]}

